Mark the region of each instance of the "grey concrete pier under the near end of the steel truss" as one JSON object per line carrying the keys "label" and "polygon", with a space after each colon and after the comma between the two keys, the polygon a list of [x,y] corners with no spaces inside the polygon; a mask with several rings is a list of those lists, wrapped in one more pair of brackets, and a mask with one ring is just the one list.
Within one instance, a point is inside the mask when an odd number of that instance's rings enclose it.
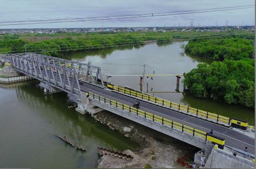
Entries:
{"label": "grey concrete pier under the near end of the steel truss", "polygon": [[77,99],[77,108],[75,108],[81,114],[90,114],[93,116],[104,109],[94,106],[92,101],[87,98],[86,93],[81,91],[81,97]]}

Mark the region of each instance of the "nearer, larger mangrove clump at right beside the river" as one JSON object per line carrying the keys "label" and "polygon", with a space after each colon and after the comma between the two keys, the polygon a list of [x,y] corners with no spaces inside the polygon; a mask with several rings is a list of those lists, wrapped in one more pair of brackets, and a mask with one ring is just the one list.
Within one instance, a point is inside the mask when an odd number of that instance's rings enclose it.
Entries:
{"label": "nearer, larger mangrove clump at right beside the river", "polygon": [[185,75],[193,96],[254,108],[254,60],[200,63]]}

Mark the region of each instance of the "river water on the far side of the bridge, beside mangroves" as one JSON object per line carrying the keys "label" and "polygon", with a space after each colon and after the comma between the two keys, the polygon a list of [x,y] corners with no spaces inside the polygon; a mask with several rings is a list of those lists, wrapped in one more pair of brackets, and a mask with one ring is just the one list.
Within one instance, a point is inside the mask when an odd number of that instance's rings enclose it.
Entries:
{"label": "river water on the far side of the bridge, beside mangroves", "polygon": [[[195,68],[200,62],[212,63],[210,58],[188,56],[181,54],[181,44],[185,42],[173,42],[167,44],[147,44],[144,46],[125,46],[98,51],[77,52],[64,58],[82,63],[92,62],[108,71],[110,75],[142,75],[146,64],[145,75],[153,74],[183,74]],[[181,78],[182,80],[183,78]],[[148,78],[148,92],[172,102],[184,104],[192,108],[198,108],[227,117],[237,117],[254,125],[254,109],[248,109],[239,105],[230,105],[211,99],[194,98],[184,94],[183,84],[180,83],[176,92],[176,77]],[[130,86],[140,89],[140,77],[111,77],[111,83],[120,86]],[[144,78],[143,91],[146,92],[146,77]]]}

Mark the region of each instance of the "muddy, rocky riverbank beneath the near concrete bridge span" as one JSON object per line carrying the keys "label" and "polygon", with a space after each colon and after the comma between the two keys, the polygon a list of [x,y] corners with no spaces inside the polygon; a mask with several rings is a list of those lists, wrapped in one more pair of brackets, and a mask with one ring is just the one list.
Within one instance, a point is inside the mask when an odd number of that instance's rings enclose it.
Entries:
{"label": "muddy, rocky riverbank beneath the near concrete bridge span", "polygon": [[[97,113],[93,118],[141,145],[123,151],[133,156],[132,160],[105,155],[97,161],[98,168],[184,168],[181,165],[183,161],[191,163],[194,153],[198,151],[198,148],[108,111]],[[186,159],[181,160],[183,156]]]}

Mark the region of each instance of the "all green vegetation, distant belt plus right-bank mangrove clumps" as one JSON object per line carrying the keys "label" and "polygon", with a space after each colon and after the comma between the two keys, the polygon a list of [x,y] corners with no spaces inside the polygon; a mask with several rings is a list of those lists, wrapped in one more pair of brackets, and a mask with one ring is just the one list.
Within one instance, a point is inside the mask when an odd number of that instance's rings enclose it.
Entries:
{"label": "all green vegetation, distant belt plus right-bank mangrove clumps", "polygon": [[0,35],[0,53],[24,53],[26,46],[27,52],[62,57],[68,52],[105,48],[95,50],[104,57],[112,47],[132,48],[149,40],[161,42],[158,45],[190,40],[185,47],[181,46],[185,52],[223,61],[199,64],[185,75],[184,83],[193,96],[254,108],[254,60],[248,59],[254,49],[254,31]]}

